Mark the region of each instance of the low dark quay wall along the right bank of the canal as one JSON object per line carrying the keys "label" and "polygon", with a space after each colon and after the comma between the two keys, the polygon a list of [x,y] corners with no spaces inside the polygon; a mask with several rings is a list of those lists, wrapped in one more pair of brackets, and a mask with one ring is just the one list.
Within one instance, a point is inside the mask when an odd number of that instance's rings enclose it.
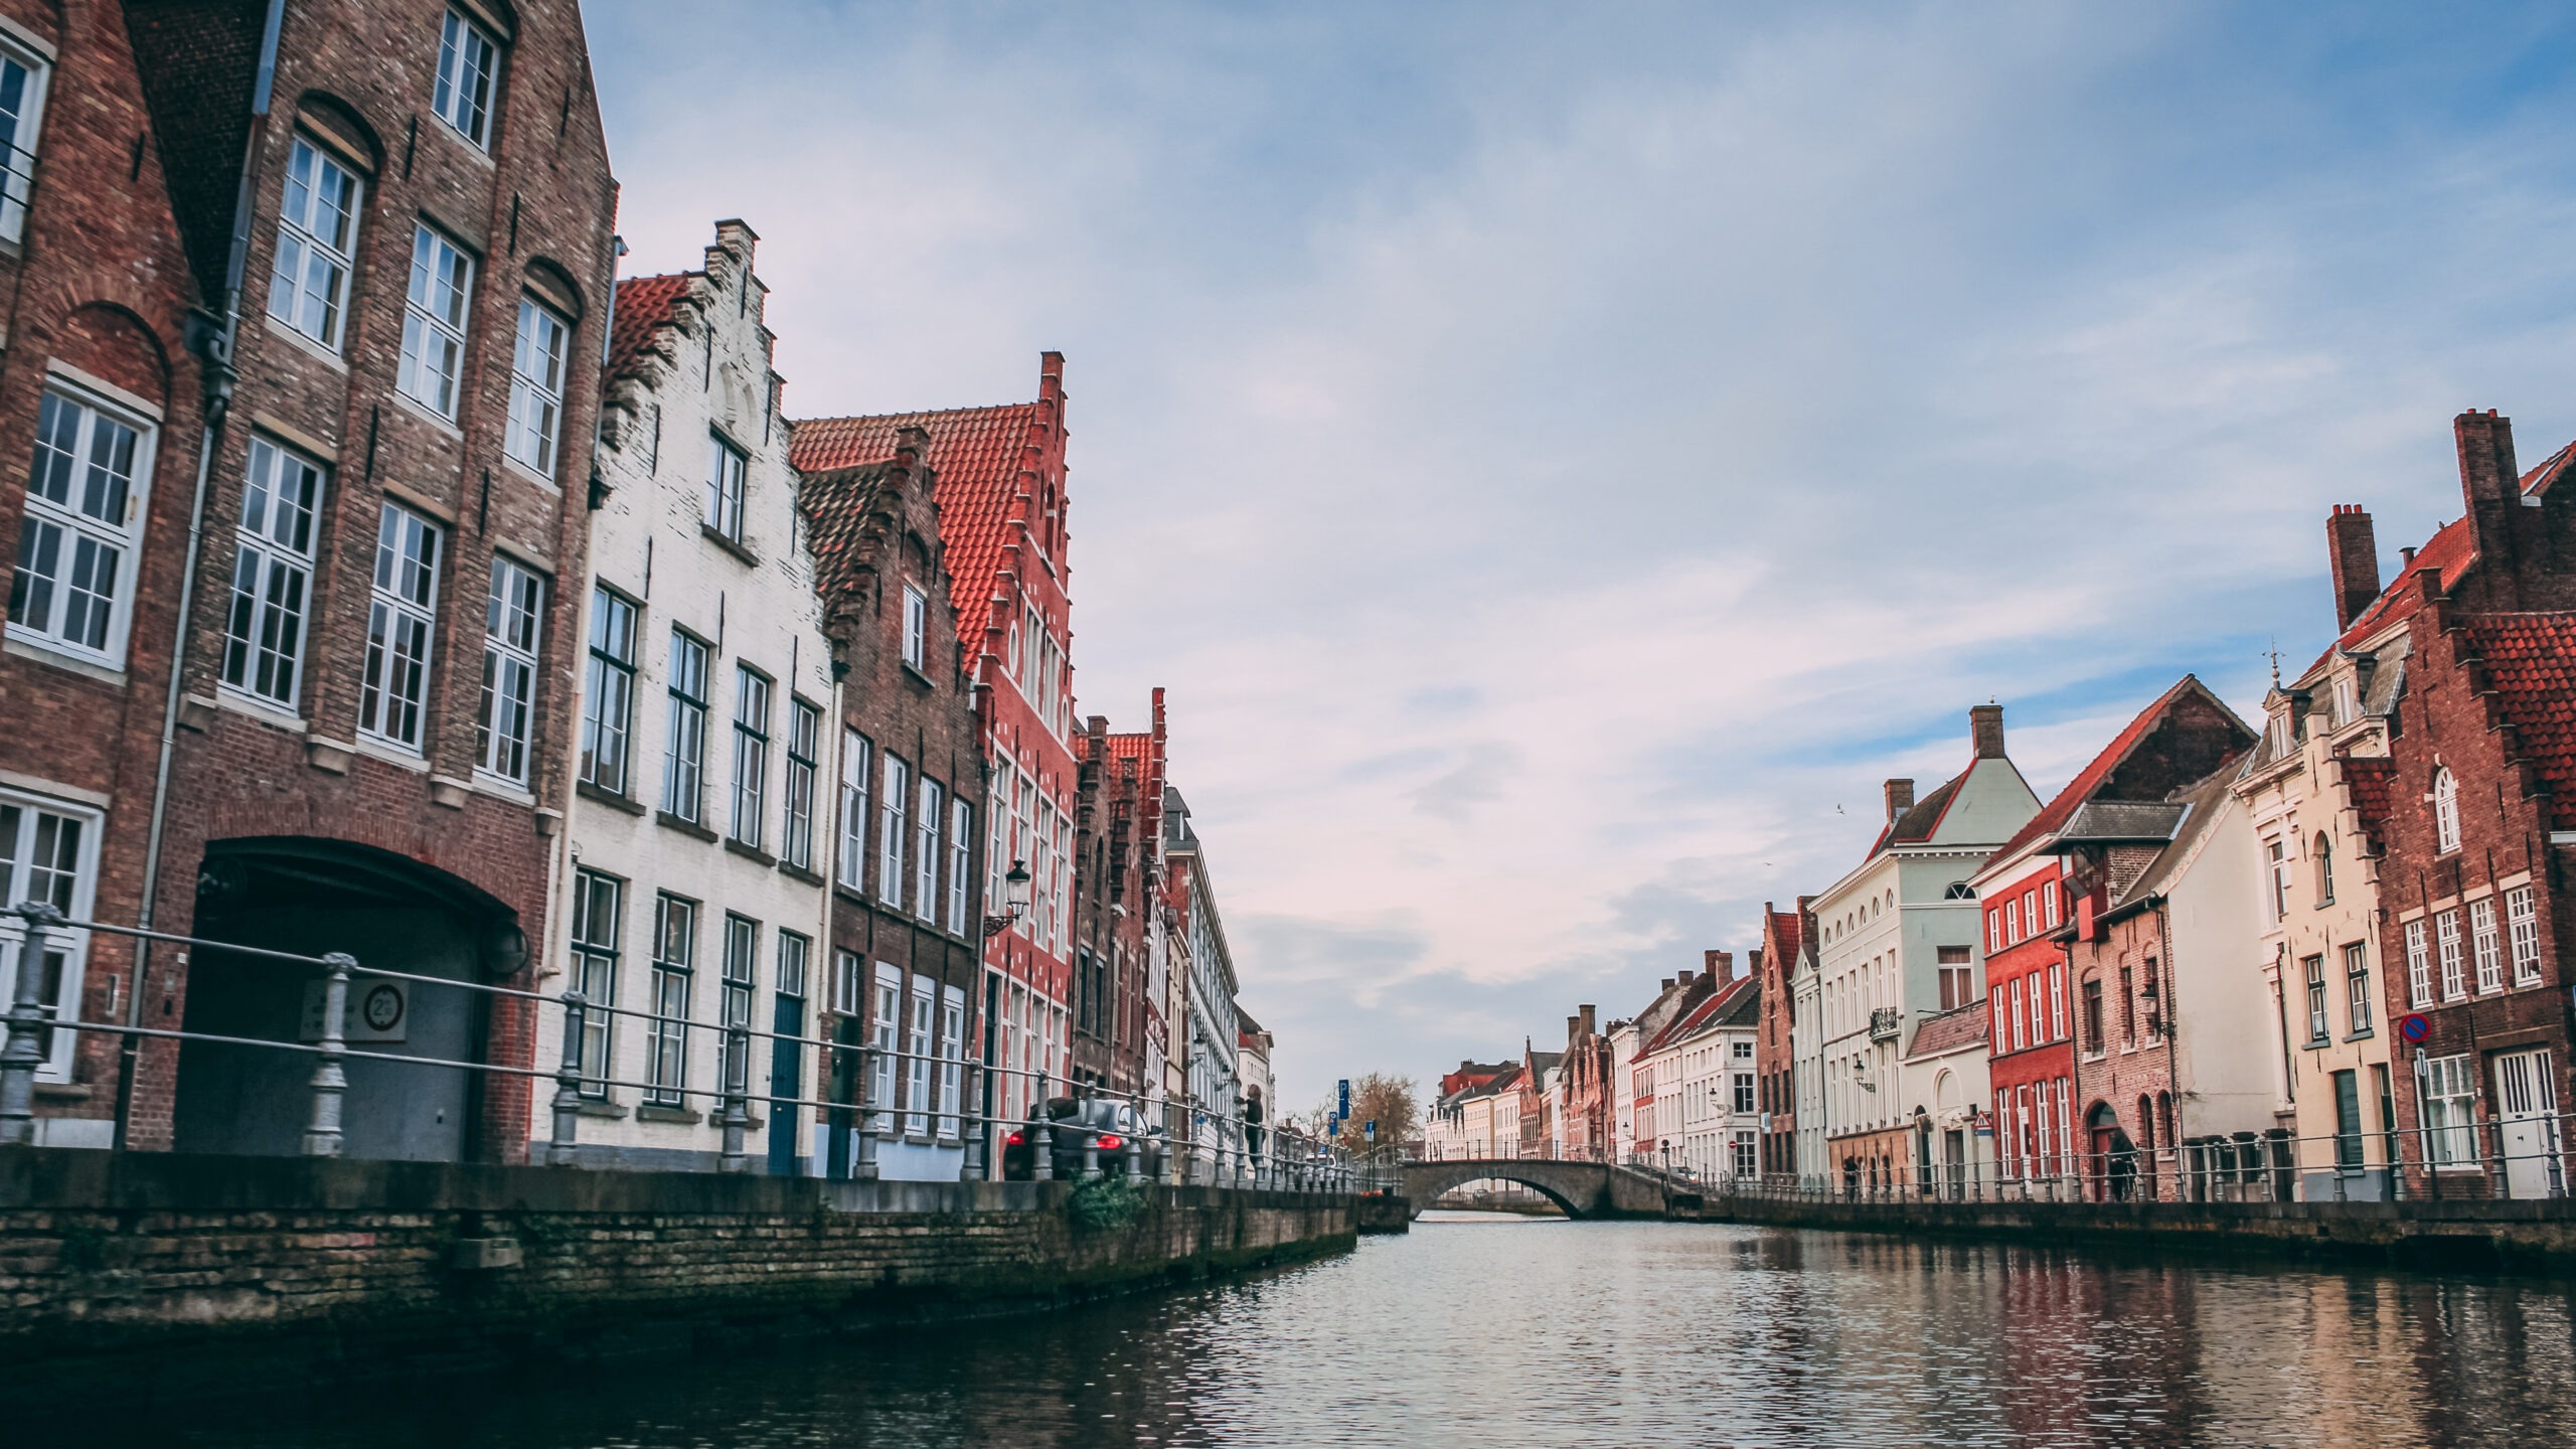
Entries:
{"label": "low dark quay wall along the right bank of the canal", "polygon": [[2367,1261],[2406,1269],[2576,1274],[2576,1201],[1847,1201],[1708,1194],[1703,1222],[2009,1238]]}

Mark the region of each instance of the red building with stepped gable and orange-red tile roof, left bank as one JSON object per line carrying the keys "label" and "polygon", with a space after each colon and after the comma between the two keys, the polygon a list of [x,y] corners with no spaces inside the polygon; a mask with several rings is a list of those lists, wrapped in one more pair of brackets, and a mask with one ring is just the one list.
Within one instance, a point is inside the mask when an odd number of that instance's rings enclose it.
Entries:
{"label": "red building with stepped gable and orange-red tile roof, left bank", "polygon": [[[806,474],[894,456],[904,428],[930,436],[951,603],[992,779],[984,897],[1002,900],[1012,866],[1033,877],[1033,908],[984,946],[994,1011],[992,1062],[1002,1116],[1025,1116],[1043,1083],[1072,1067],[1072,853],[1077,766],[1072,572],[1066,562],[1064,356],[1043,353],[1036,402],[819,418],[796,423]],[[1226,1055],[1234,1031],[1224,1034]],[[1231,1065],[1226,1070],[1231,1080]]]}

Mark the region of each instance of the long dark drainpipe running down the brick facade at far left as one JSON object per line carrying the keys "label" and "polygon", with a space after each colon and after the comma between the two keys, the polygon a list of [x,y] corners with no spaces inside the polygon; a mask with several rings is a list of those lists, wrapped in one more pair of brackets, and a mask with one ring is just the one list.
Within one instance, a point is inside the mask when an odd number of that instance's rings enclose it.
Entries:
{"label": "long dark drainpipe running down the brick facade at far left", "polygon": [[[232,415],[232,343],[242,325],[242,271],[250,260],[250,199],[258,191],[260,142],[268,134],[268,103],[278,83],[278,31],[286,26],[286,0],[268,0],[260,26],[260,70],[250,93],[250,142],[242,147],[242,186],[232,199],[232,255],[224,263],[222,315],[191,317],[191,345],[204,358],[206,431],[196,446],[196,498],[188,503],[188,557],[178,583],[178,619],[170,624],[170,686],[162,694],[160,753],[152,763],[152,825],[144,835],[144,884],[137,926],[152,931],[160,905],[162,835],[170,828],[170,755],[178,750],[178,701],[188,678],[188,619],[196,611],[196,565],[206,541],[206,492],[214,482],[214,454]],[[183,957],[185,959],[185,957]],[[144,995],[152,980],[152,941],[134,941],[134,987],[126,993],[126,1026],[144,1024]],[[129,1145],[134,1116],[134,1070],[142,1036],[126,1031],[116,1052],[116,1150]]]}

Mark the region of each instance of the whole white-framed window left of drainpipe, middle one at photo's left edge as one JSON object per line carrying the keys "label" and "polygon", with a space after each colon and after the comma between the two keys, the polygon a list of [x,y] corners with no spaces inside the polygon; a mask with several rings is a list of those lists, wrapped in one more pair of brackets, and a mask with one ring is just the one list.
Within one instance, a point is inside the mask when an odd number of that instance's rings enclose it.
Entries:
{"label": "whole white-framed window left of drainpipe, middle one at photo's left edge", "polygon": [[36,462],[26,480],[13,632],[111,668],[124,665],[134,611],[134,552],[152,482],[152,428],[46,389],[36,405]]}

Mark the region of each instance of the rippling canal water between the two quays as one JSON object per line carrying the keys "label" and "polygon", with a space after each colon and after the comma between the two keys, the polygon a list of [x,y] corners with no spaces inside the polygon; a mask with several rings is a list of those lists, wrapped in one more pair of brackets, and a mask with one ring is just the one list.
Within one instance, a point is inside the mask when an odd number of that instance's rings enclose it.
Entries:
{"label": "rippling canal water between the two quays", "polygon": [[[88,1444],[2576,1444],[2576,1287],[1430,1214],[1074,1312],[544,1382],[93,1421]],[[134,1434],[126,1439],[124,1434]],[[149,1436],[149,1439],[144,1439]],[[23,1439],[36,1444],[36,1439]]]}

